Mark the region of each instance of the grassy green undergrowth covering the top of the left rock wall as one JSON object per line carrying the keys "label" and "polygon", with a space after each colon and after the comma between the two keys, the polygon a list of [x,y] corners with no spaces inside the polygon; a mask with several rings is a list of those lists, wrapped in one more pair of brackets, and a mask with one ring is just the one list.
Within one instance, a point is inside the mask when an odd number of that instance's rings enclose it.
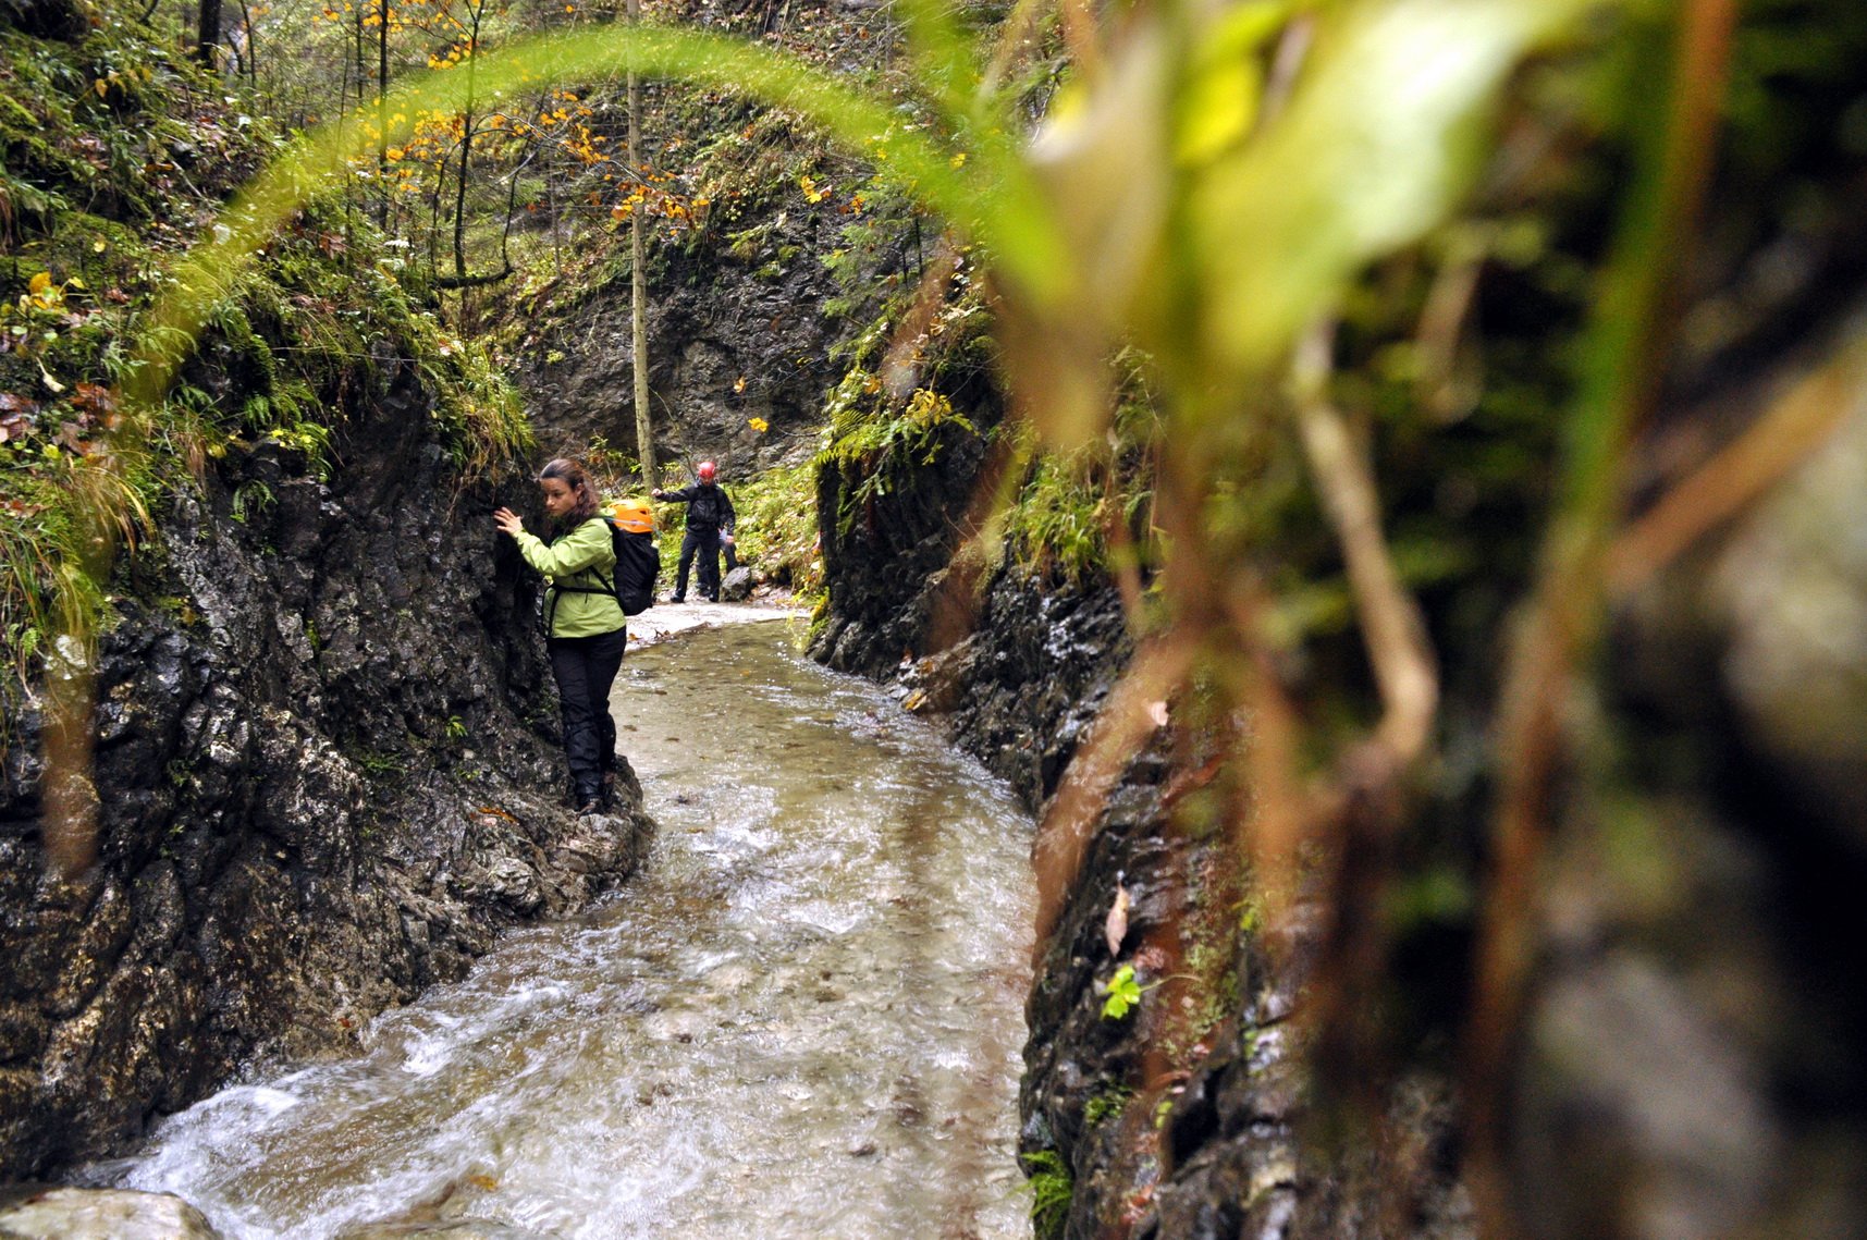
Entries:
{"label": "grassy green undergrowth covering the top of the left rock wall", "polygon": [[[0,32],[0,680],[7,717],[39,661],[106,618],[110,545],[164,499],[271,444],[327,476],[344,426],[414,377],[461,478],[530,444],[484,347],[450,332],[342,205],[312,205],[205,314],[198,340],[146,340],[179,258],[276,146],[172,47],[108,17],[78,43]],[[230,106],[233,105],[233,106]],[[151,407],[123,392],[161,349]],[[147,351],[142,351],[147,349]],[[295,465],[293,465],[295,463]],[[246,495],[246,502],[263,497]]]}

